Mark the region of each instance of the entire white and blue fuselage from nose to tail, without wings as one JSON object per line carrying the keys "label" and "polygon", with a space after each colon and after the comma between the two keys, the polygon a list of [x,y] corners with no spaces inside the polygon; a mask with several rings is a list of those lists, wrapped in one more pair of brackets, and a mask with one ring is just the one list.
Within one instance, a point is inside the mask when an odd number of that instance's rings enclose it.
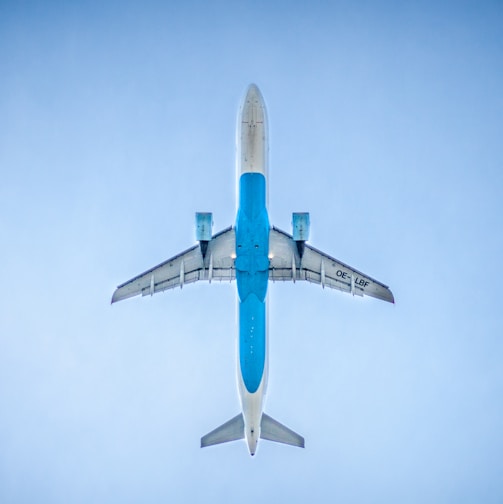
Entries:
{"label": "entire white and blue fuselage from nose to tail, without wings", "polygon": [[253,455],[260,437],[267,389],[269,267],[267,114],[262,95],[254,84],[249,86],[239,111],[236,143],[237,381],[245,438]]}

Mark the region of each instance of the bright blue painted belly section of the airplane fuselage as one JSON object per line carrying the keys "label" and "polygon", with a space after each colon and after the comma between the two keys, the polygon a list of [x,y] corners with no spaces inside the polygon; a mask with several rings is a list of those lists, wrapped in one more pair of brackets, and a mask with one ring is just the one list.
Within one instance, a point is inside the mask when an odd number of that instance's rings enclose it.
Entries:
{"label": "bright blue painted belly section of the airplane fuselage", "polygon": [[259,388],[266,363],[268,255],[266,179],[262,173],[243,173],[239,179],[235,266],[239,296],[239,364],[249,393]]}

